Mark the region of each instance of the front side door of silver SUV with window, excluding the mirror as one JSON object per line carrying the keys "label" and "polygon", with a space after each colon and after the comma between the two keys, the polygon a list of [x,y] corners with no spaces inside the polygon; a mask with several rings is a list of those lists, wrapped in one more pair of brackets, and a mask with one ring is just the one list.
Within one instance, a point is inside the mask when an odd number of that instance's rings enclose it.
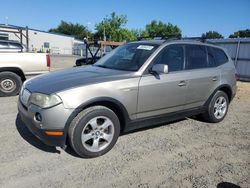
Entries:
{"label": "front side door of silver SUV with window, excluding the mirror", "polygon": [[165,47],[154,64],[167,64],[167,74],[145,74],[139,83],[137,117],[145,118],[176,112],[183,109],[187,91],[188,72],[184,70],[184,46],[179,44]]}

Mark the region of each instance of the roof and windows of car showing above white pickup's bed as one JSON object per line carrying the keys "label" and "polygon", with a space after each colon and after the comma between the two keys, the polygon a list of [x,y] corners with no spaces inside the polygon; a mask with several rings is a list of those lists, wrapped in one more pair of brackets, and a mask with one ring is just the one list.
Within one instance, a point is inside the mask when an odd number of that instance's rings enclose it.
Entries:
{"label": "roof and windows of car showing above white pickup's bed", "polygon": [[0,40],[0,53],[1,52],[26,52],[26,47],[20,42],[12,40]]}

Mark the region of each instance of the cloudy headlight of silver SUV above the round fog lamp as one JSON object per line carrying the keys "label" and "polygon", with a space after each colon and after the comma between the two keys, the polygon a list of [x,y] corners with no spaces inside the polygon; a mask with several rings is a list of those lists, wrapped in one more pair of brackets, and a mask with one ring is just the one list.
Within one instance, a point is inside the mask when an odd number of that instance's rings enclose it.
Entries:
{"label": "cloudy headlight of silver SUV above the round fog lamp", "polygon": [[42,93],[32,93],[30,96],[30,103],[35,104],[41,108],[50,108],[60,104],[62,100],[57,95],[45,95]]}

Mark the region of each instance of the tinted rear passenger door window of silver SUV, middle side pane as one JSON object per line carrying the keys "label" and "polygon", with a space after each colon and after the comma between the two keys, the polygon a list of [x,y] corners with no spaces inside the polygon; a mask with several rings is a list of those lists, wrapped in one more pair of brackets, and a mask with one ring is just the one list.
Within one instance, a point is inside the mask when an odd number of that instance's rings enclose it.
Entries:
{"label": "tinted rear passenger door window of silver SUV, middle side pane", "polygon": [[186,69],[200,69],[207,67],[206,47],[201,45],[187,45],[187,67]]}

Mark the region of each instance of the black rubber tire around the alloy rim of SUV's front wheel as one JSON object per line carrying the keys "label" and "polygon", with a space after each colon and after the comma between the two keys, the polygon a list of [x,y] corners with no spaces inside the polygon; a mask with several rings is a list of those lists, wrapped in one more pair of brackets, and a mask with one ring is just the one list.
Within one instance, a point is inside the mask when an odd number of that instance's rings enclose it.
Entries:
{"label": "black rubber tire around the alloy rim of SUV's front wheel", "polygon": [[[86,145],[84,146],[85,143],[83,144],[82,142],[82,134],[84,133],[84,130],[89,128],[87,127],[87,126],[90,126],[88,122],[98,116],[107,117],[113,123],[113,126],[112,126],[113,138],[103,150],[94,152],[94,151],[89,151]],[[94,132],[93,130],[90,130],[89,133],[94,134],[93,132]],[[93,158],[93,157],[104,155],[109,150],[111,150],[112,147],[115,145],[119,137],[119,134],[120,134],[120,121],[118,117],[112,110],[104,106],[93,106],[80,112],[72,120],[70,127],[69,127],[69,132],[68,132],[70,146],[80,157],[83,157],[83,158]],[[94,138],[91,138],[89,141],[94,142]],[[99,139],[98,139],[98,142],[99,142]]]}

